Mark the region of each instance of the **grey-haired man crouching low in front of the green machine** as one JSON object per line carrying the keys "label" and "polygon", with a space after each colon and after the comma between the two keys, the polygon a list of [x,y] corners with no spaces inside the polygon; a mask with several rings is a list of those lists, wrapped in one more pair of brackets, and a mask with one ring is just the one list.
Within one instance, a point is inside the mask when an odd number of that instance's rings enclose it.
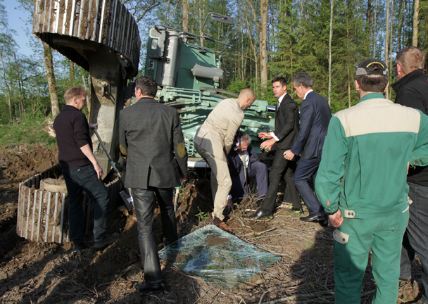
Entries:
{"label": "grey-haired man crouching low in front of the green machine", "polygon": [[257,153],[251,148],[251,137],[246,132],[238,131],[232,149],[227,155],[232,188],[227,197],[227,206],[232,207],[232,199],[248,196],[248,182],[256,177],[257,194],[264,197],[267,191],[267,167],[258,159]]}

